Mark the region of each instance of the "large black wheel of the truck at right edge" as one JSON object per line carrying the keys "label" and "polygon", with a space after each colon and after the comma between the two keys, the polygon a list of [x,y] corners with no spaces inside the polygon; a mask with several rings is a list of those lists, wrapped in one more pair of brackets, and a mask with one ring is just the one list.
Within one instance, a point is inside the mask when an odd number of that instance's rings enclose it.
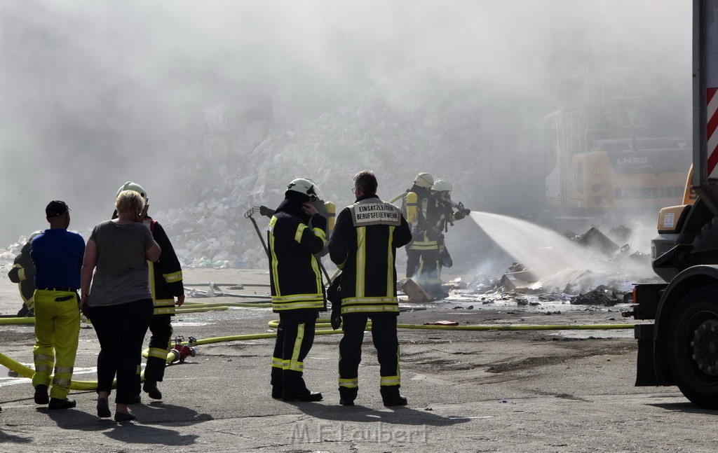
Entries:
{"label": "large black wheel of the truck at right edge", "polygon": [[718,409],[718,286],[683,297],[667,340],[668,366],[681,392],[698,406]]}

